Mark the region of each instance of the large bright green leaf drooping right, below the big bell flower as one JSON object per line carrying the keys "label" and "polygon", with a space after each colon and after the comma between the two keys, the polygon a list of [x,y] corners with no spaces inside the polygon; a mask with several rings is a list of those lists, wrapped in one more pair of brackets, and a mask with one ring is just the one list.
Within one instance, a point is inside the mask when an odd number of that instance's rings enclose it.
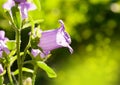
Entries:
{"label": "large bright green leaf drooping right, below the big bell flower", "polygon": [[37,65],[47,73],[48,77],[50,78],[57,77],[57,74],[55,73],[55,71],[52,68],[50,68],[46,63],[42,61],[37,61]]}

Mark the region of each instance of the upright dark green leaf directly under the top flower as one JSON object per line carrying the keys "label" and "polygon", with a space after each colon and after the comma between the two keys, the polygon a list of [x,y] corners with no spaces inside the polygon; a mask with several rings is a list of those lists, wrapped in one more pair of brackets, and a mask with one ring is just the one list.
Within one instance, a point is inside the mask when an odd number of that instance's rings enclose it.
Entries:
{"label": "upright dark green leaf directly under the top flower", "polygon": [[16,26],[16,28],[20,29],[22,25],[22,17],[20,15],[20,10],[18,9],[18,6],[13,6],[11,10],[14,25]]}

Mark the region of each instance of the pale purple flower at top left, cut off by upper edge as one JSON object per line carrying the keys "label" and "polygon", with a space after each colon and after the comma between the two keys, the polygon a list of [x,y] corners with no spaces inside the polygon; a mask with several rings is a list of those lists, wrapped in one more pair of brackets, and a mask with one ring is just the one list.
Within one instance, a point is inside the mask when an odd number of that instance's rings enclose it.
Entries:
{"label": "pale purple flower at top left, cut off by upper edge", "polygon": [[23,20],[28,17],[28,11],[36,9],[36,6],[33,3],[27,2],[26,0],[8,0],[3,5],[3,8],[11,10],[11,8],[15,6],[15,2],[19,3],[18,8],[20,8],[20,13]]}

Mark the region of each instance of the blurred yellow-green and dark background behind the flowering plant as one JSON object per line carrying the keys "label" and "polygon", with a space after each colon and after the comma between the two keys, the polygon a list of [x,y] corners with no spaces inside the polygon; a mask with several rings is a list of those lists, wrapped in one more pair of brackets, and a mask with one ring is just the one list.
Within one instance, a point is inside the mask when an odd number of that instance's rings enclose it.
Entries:
{"label": "blurred yellow-green and dark background behind the flowering plant", "polygon": [[[46,62],[58,74],[49,79],[39,70],[36,85],[120,85],[120,0],[40,0],[42,30],[55,29],[62,19],[72,38],[74,53],[67,48],[52,51]],[[0,1],[0,29],[14,39]],[[35,15],[36,14],[36,15]],[[28,39],[23,30],[22,45]]]}

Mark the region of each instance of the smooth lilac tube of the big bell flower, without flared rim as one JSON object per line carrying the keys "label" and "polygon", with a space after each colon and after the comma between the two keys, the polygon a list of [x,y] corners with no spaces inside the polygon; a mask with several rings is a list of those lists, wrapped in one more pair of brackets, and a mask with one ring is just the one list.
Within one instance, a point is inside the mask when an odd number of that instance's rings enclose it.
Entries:
{"label": "smooth lilac tube of the big bell flower, without flared rim", "polygon": [[59,48],[60,46],[56,43],[56,30],[44,31],[41,34],[40,43],[38,44],[44,51],[51,51]]}

